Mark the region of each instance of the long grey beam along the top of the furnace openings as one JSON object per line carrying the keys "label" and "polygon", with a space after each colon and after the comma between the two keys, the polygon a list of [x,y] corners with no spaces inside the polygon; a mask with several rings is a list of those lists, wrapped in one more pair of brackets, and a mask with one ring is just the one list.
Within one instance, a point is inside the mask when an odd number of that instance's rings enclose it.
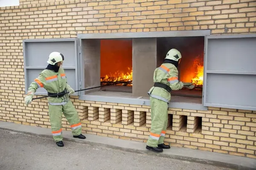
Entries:
{"label": "long grey beam along the top of the furnace openings", "polygon": [[194,31],[154,31],[154,32],[129,32],[129,33],[100,33],[77,34],[79,39],[107,39],[107,38],[157,38],[157,37],[197,37],[210,35],[210,30]]}

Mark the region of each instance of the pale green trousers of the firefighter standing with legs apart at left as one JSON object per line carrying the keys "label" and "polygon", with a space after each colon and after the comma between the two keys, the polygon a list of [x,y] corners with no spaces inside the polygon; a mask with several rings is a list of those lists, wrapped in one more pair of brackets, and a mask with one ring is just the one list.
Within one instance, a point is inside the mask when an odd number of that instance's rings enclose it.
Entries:
{"label": "pale green trousers of the firefighter standing with legs apart at left", "polygon": [[76,108],[69,100],[66,105],[49,105],[49,117],[52,127],[52,136],[55,142],[62,141],[62,112],[69,122],[72,134],[78,136],[81,134],[81,122]]}

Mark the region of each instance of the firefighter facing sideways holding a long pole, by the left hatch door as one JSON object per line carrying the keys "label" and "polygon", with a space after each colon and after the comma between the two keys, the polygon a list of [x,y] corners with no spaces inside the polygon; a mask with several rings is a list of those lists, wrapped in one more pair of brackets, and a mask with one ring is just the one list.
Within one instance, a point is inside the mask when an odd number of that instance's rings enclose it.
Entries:
{"label": "firefighter facing sideways holding a long pole, by the left hatch door", "polygon": [[[30,84],[28,95],[25,97],[25,103],[26,106],[28,106],[28,104],[32,102],[32,97],[38,88],[44,88],[47,90],[48,95],[54,95],[47,99],[49,103],[49,118],[52,128],[52,136],[59,147],[64,146],[62,142],[63,136],[61,128],[62,112],[71,126],[73,137],[79,139],[86,138],[81,134],[79,115],[69,98],[69,94],[74,94],[75,91],[67,84],[66,74],[61,67],[63,60],[63,54],[52,52],[47,61],[49,65]],[[64,94],[65,92],[69,93]]]}

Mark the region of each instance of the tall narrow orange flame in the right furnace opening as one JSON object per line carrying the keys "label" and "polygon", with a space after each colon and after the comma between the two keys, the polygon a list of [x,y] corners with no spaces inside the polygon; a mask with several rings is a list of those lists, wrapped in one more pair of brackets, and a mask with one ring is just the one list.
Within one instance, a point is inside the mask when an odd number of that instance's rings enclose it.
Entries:
{"label": "tall narrow orange flame in the right furnace opening", "polygon": [[192,78],[192,83],[194,85],[203,85],[204,82],[204,66],[202,61],[200,61],[199,56],[194,60],[194,66],[196,67],[196,76]]}

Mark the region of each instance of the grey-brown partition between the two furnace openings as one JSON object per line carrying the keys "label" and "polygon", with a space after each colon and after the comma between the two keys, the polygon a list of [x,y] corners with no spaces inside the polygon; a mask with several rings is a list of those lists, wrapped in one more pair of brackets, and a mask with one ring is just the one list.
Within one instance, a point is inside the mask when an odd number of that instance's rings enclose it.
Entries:
{"label": "grey-brown partition between the two furnace openings", "polygon": [[136,96],[148,96],[157,67],[157,38],[133,38],[133,89]]}

